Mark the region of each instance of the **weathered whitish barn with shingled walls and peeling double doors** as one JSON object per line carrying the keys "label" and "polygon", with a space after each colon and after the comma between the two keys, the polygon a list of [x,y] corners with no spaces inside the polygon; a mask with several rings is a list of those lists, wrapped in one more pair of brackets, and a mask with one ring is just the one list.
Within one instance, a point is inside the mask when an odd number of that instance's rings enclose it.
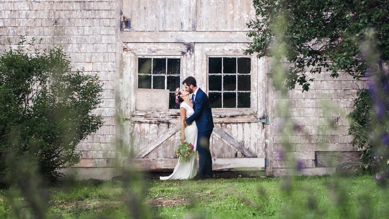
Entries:
{"label": "weathered whitish barn with shingled walls and peeling double doors", "polygon": [[[282,175],[296,165],[289,162],[294,158],[301,173],[334,172],[335,165],[321,158],[354,156],[343,153],[357,150],[345,115],[363,81],[323,72],[309,92],[296,88],[280,97],[266,77],[268,60],[244,55],[250,19],[256,19],[251,0],[2,0],[0,51],[9,46],[7,37],[42,37],[46,48],[62,44],[75,69],[100,76],[104,103],[95,113],[105,123],[77,148],[84,155],[67,172],[78,178],[116,175],[116,152],[131,140],[144,170],[171,170],[179,143],[172,92],[187,76],[197,79],[213,107],[214,170]],[[150,94],[156,102],[144,101]],[[284,123],[277,107],[282,101],[290,103]],[[281,125],[295,127],[289,152],[280,152]]]}

